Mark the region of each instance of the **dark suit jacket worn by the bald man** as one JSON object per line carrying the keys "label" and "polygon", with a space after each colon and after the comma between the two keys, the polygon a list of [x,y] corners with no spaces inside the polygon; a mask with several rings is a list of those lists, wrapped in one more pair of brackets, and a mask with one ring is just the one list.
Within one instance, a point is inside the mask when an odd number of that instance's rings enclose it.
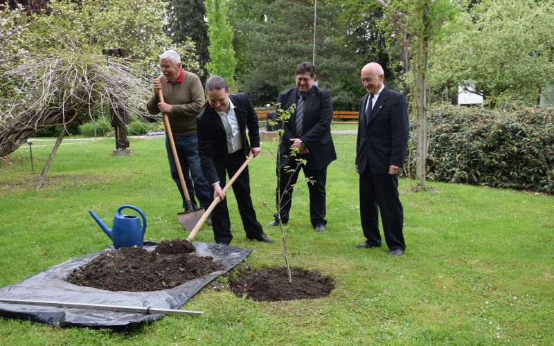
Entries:
{"label": "dark suit jacket worn by the bald man", "polygon": [[410,131],[408,107],[404,95],[385,86],[366,123],[368,98],[365,95],[359,102],[356,165],[360,174],[367,165],[374,174],[388,174],[389,165],[404,165]]}

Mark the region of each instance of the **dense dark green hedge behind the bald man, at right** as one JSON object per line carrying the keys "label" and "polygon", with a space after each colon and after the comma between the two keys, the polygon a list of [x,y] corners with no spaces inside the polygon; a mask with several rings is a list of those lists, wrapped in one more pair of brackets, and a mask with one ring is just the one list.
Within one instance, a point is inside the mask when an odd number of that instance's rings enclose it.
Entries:
{"label": "dense dark green hedge behind the bald man, at right", "polygon": [[[554,107],[434,105],[428,114],[427,179],[554,193]],[[410,136],[414,175],[414,128]]]}

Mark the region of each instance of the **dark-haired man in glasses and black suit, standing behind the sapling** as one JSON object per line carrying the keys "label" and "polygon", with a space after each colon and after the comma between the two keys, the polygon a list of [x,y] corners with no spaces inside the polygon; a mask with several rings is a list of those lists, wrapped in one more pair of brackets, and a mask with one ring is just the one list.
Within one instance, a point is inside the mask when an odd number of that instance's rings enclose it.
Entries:
{"label": "dark-haired man in glasses and black suit, standing behind the sapling", "polygon": [[[279,145],[277,174],[280,174],[276,201],[280,198],[280,219],[283,224],[289,221],[292,204],[292,190],[298,179],[300,167],[296,158],[306,161],[301,165],[304,175],[312,179],[308,183],[310,192],[310,221],[314,230],[324,232],[325,220],[325,181],[327,166],[337,158],[331,138],[333,105],[331,94],[314,85],[315,68],[311,62],[302,62],[296,67],[296,87],[279,94],[278,104],[289,109],[296,104],[291,118],[283,125],[283,138]],[[298,156],[291,157],[291,147],[298,148]],[[289,172],[285,167],[295,168]],[[279,206],[277,206],[279,208]],[[278,214],[270,226],[278,226]]]}

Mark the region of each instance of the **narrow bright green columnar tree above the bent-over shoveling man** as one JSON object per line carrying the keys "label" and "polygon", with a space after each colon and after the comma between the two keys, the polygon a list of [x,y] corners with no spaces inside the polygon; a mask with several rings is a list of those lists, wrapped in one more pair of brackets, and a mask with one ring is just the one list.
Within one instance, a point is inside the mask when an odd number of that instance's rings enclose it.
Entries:
{"label": "narrow bright green columnar tree above the bent-over shoveling man", "polygon": [[220,75],[233,90],[235,67],[235,51],[233,50],[233,28],[227,22],[227,1],[206,0],[208,15],[208,37],[210,37],[210,62],[206,69],[211,75]]}

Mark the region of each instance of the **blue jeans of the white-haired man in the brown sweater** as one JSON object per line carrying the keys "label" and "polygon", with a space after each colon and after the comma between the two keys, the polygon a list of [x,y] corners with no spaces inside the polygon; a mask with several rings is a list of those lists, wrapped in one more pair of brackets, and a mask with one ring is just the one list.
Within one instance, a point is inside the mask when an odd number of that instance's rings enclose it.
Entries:
{"label": "blue jeans of the white-haired man in the brown sweater", "polygon": [[[212,195],[210,195],[210,184],[208,180],[204,178],[202,174],[202,167],[200,167],[200,156],[198,156],[198,138],[196,134],[189,135],[174,135],[175,149],[177,149],[177,155],[179,156],[179,163],[181,164],[181,171],[185,179],[188,196],[190,197],[190,203],[193,204],[193,208],[197,209],[195,196],[202,208],[208,208],[212,203]],[[181,186],[181,180],[179,179],[179,172],[177,172],[177,165],[175,164],[175,158],[173,157],[173,151],[169,137],[166,134],[166,151],[168,152],[169,168],[171,171],[171,177],[177,188],[181,193],[181,199],[183,199],[183,208],[186,208],[186,199]]]}

